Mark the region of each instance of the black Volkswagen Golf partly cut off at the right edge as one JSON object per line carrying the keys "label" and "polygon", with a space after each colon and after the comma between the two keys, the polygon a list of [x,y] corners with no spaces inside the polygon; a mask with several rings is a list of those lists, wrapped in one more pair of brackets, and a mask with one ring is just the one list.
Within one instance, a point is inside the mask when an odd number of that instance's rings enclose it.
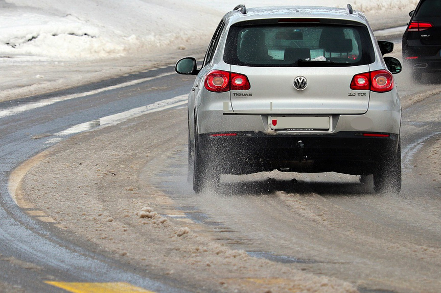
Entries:
{"label": "black Volkswagen Golf partly cut off at the right edge", "polygon": [[424,72],[441,71],[441,0],[421,0],[409,15],[403,60],[420,81]]}

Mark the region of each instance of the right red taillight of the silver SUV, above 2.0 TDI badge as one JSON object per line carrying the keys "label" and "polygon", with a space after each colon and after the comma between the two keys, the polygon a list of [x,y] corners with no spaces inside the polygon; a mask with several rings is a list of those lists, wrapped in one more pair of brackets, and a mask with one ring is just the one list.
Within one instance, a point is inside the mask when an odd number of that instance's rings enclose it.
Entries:
{"label": "right red taillight of the silver SUV, above 2.0 TDI badge", "polygon": [[351,82],[352,90],[371,90],[384,93],[393,89],[393,77],[387,70],[377,70],[354,75]]}

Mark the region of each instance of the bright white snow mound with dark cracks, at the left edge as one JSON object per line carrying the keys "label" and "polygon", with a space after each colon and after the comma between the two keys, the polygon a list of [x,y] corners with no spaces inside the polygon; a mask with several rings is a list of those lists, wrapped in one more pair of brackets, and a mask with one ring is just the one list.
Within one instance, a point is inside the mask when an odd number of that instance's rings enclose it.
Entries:
{"label": "bright white snow mound with dark cracks, at the left edge", "polygon": [[124,39],[123,42],[113,42],[102,37],[98,28],[72,15],[55,17],[9,13],[0,18],[0,52],[7,56],[55,59],[121,56],[125,50],[124,42]]}

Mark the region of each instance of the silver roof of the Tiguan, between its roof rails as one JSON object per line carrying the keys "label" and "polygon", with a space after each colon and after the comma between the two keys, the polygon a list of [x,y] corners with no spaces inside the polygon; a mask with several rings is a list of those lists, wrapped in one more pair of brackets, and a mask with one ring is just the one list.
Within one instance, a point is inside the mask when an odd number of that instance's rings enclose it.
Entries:
{"label": "silver roof of the Tiguan, between its roof rails", "polygon": [[[245,12],[245,13],[244,13]],[[339,20],[357,21],[367,25],[367,19],[363,13],[349,9],[319,6],[279,6],[259,7],[245,10],[233,10],[225,14],[225,19],[230,24],[257,19],[274,18],[327,18]]]}

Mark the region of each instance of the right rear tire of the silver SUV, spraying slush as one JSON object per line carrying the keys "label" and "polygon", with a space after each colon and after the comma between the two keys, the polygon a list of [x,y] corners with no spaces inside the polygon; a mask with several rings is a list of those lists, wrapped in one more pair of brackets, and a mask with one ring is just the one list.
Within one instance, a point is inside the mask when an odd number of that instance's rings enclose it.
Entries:
{"label": "right rear tire of the silver SUV, spraying slush", "polygon": [[374,191],[376,193],[394,193],[401,191],[401,145],[398,150],[389,150],[382,157],[378,170],[374,173]]}

